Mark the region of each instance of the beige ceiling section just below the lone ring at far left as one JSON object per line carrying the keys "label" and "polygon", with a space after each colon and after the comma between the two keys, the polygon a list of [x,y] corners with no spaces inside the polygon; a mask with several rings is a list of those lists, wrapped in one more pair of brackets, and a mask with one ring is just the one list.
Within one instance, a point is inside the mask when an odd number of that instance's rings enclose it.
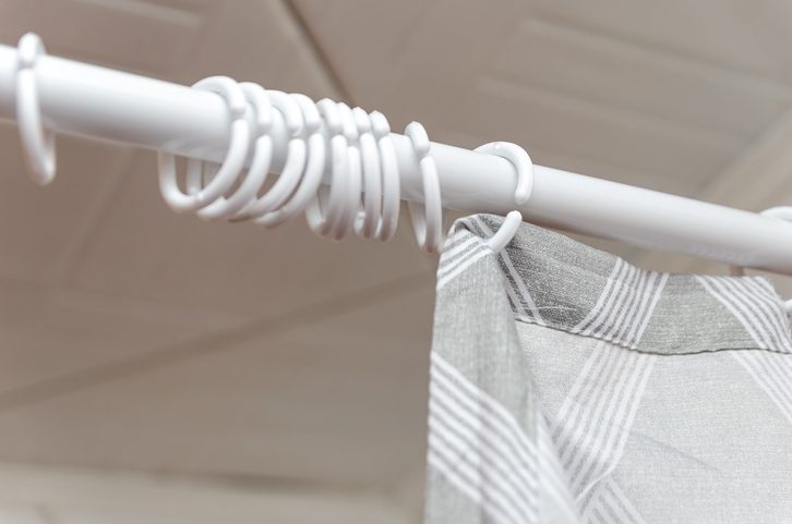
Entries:
{"label": "beige ceiling section just below the lone ring at far left", "polygon": [[24,170],[15,125],[0,125],[0,275],[53,282],[69,270],[97,214],[124,174],[131,151],[70,137],[58,141],[60,176],[46,188]]}

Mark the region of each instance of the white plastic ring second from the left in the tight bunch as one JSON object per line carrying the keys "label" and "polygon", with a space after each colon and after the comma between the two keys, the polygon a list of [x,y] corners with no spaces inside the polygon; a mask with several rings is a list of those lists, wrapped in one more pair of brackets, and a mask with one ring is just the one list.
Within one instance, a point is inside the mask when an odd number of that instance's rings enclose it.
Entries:
{"label": "white plastic ring second from the left in the tight bunch", "polygon": [[[255,122],[253,159],[242,183],[239,184],[239,187],[231,196],[228,198],[220,196],[208,206],[199,209],[197,216],[206,220],[235,217],[244,206],[255,199],[259,190],[264,185],[269,174],[269,166],[273,159],[273,139],[269,136],[273,115],[269,96],[262,86],[252,82],[243,82],[239,84],[239,87],[253,109]],[[189,186],[190,182],[188,182]]]}

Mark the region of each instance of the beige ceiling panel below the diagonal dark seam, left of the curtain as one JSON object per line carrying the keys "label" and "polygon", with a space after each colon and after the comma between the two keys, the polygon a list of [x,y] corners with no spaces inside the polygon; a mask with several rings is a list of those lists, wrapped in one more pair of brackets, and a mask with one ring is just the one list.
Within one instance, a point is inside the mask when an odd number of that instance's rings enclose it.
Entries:
{"label": "beige ceiling panel below the diagonal dark seam, left of the curtain", "polygon": [[25,409],[0,394],[0,460],[398,483],[423,460],[431,284],[273,336],[254,325],[192,358],[163,351],[155,368],[129,358],[113,380],[89,376]]}

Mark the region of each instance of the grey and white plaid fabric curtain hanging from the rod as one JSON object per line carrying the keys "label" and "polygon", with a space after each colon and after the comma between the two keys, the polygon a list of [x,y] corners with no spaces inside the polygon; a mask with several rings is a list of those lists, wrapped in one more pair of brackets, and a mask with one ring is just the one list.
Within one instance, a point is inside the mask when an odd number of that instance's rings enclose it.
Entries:
{"label": "grey and white plaid fabric curtain hanging from the rod", "polygon": [[792,522],[792,341],[760,277],[646,271],[501,218],[437,270],[425,522]]}

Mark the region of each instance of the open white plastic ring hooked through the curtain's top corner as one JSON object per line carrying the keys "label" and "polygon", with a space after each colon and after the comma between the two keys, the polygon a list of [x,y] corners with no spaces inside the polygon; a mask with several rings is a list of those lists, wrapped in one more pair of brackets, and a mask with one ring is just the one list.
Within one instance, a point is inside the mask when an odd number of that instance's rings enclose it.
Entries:
{"label": "open white plastic ring hooked through the curtain's top corner", "polygon": [[[517,172],[517,185],[514,190],[514,202],[525,204],[533,191],[533,162],[531,157],[517,144],[511,142],[490,142],[475,149],[478,153],[494,155],[508,160]],[[487,241],[487,245],[497,253],[514,239],[519,226],[523,223],[523,214],[518,210],[509,211],[501,227]]]}

